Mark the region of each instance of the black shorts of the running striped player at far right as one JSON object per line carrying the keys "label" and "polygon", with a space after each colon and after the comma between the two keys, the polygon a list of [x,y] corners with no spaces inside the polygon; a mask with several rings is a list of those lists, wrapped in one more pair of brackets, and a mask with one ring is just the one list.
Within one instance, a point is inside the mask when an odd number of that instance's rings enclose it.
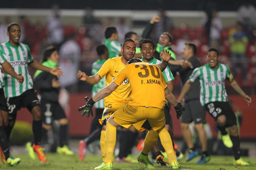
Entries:
{"label": "black shorts of the running striped player at far right", "polygon": [[233,109],[229,105],[229,102],[210,102],[205,104],[204,107],[206,108],[207,112],[209,112],[210,115],[215,119],[215,121],[220,115],[225,115],[225,127],[236,125],[236,116]]}

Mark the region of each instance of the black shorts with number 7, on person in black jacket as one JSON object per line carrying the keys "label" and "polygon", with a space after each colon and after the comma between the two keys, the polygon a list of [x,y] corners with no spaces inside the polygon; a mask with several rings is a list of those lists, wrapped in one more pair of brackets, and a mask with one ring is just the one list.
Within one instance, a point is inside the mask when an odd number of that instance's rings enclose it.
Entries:
{"label": "black shorts with number 7, on person in black jacket", "polygon": [[59,102],[41,99],[41,112],[43,123],[51,125],[54,120],[66,118],[63,108]]}

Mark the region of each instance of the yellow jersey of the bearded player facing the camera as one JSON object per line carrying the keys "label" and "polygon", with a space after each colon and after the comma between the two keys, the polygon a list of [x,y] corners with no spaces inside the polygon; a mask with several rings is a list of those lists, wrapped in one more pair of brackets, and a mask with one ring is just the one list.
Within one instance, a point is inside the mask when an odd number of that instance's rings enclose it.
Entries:
{"label": "yellow jersey of the bearded player facing the camera", "polygon": [[[101,78],[106,76],[106,86],[110,84],[118,75],[119,71],[126,66],[121,57],[114,57],[108,59],[97,72]],[[105,97],[105,103],[109,102],[122,102],[128,103],[130,101],[130,83],[128,79],[124,79],[119,87],[112,92],[109,96]]]}

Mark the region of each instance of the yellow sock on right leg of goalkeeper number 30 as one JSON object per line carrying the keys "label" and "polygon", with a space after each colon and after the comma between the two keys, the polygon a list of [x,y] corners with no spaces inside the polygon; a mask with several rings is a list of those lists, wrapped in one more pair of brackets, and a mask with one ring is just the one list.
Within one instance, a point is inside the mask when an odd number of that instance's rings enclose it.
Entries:
{"label": "yellow sock on right leg of goalkeeper number 30", "polygon": [[160,137],[162,146],[164,147],[165,152],[167,153],[169,164],[171,164],[174,161],[177,161],[174,153],[174,148],[172,146],[171,136],[166,130],[166,128],[162,129],[159,132],[159,137]]}

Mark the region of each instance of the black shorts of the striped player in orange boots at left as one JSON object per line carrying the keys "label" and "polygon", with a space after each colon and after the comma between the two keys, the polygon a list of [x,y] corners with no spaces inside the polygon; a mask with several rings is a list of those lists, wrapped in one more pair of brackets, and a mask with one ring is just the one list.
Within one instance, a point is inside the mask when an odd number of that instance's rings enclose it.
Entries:
{"label": "black shorts of the striped player in orange boots at left", "polygon": [[6,101],[9,120],[15,119],[17,111],[19,111],[21,107],[26,107],[31,112],[33,107],[40,106],[40,102],[34,89],[27,90],[17,97],[8,97],[6,98]]}

